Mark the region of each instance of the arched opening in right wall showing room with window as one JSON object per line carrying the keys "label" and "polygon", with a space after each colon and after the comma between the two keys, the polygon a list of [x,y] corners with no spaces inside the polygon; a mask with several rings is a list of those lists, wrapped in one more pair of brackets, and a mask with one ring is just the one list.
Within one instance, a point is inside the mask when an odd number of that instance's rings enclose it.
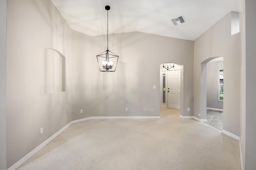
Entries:
{"label": "arched opening in right wall showing room with window", "polygon": [[201,63],[200,119],[220,130],[223,128],[223,57]]}

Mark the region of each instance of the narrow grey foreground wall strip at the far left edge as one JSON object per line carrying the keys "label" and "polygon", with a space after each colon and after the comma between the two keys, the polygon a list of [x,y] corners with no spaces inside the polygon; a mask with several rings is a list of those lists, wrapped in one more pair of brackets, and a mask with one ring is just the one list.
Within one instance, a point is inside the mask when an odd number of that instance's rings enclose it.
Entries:
{"label": "narrow grey foreground wall strip at the far left edge", "polygon": [[6,169],[6,5],[0,1],[0,170]]}

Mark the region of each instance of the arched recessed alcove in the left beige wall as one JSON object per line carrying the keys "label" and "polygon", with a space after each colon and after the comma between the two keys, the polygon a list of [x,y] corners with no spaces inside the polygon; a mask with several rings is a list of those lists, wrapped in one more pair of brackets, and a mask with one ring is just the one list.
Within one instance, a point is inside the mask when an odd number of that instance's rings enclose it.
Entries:
{"label": "arched recessed alcove in the left beige wall", "polygon": [[44,50],[44,94],[66,91],[66,58],[60,51]]}

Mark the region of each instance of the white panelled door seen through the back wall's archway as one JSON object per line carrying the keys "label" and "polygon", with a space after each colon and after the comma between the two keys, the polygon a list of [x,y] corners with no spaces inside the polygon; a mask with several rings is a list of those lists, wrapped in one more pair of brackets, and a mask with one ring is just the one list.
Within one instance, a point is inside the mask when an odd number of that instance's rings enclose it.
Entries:
{"label": "white panelled door seen through the back wall's archway", "polygon": [[180,109],[180,70],[168,70],[168,108]]}

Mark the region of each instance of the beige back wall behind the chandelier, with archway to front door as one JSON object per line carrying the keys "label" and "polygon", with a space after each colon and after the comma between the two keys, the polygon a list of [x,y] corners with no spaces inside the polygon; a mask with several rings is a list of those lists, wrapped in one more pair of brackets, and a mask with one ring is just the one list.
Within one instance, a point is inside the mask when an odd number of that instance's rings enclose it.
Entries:
{"label": "beige back wall behind the chandelier, with archway to front door", "polygon": [[[168,61],[183,65],[184,108],[193,107],[193,41],[139,32],[109,35],[109,49],[120,56],[120,63],[116,72],[102,73],[96,55],[106,50],[106,36],[89,37],[74,32],[74,39],[77,58],[72,62],[80,69],[72,72],[81,76],[75,76],[80,80],[74,95],[77,99],[76,107],[72,108],[73,119],[159,116],[159,65]],[[80,114],[80,109],[86,112]],[[182,113],[193,114],[183,108]]]}

